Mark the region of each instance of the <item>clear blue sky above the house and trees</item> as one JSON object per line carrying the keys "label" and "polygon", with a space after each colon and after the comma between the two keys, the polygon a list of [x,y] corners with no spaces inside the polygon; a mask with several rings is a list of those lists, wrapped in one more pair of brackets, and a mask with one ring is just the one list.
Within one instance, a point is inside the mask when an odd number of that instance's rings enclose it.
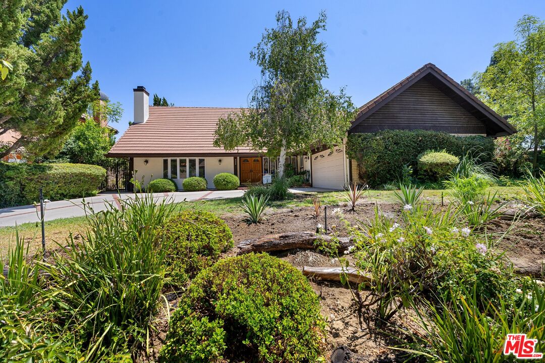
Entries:
{"label": "clear blue sky above the house and trees", "polygon": [[249,59],[276,11],[328,16],[320,35],[332,91],[356,106],[434,63],[460,81],[485,69],[494,44],[513,39],[524,14],[545,19],[543,0],[495,1],[84,1],[82,52],[93,77],[132,121],[132,89],[144,85],[175,106],[245,107],[259,69]]}

